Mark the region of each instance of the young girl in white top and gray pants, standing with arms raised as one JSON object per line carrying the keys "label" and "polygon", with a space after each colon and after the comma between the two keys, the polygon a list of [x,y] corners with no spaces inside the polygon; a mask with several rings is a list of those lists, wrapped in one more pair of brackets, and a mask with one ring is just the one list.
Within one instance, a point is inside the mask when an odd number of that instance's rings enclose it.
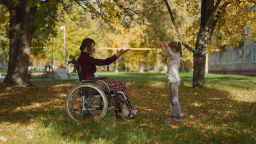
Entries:
{"label": "young girl in white top and gray pants, standing with arms raised", "polygon": [[178,73],[179,63],[181,63],[182,70],[184,70],[181,43],[173,41],[167,46],[165,41],[162,41],[162,43],[158,44],[158,48],[162,49],[162,51],[168,56],[167,77],[168,82],[170,83],[168,98],[170,101],[171,117],[167,120],[182,122],[181,106],[179,105],[178,99],[179,85],[181,85],[181,78]]}

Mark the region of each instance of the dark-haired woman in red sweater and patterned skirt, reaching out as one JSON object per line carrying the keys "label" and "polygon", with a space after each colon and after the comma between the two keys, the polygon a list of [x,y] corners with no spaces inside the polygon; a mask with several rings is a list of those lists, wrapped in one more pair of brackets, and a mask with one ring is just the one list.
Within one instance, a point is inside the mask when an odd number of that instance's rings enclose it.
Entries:
{"label": "dark-haired woman in red sweater and patterned skirt, reaching out", "polygon": [[[109,65],[113,63],[118,57],[130,51],[130,49],[126,49],[126,50],[121,49],[118,53],[116,53],[115,55],[107,59],[96,59],[90,56],[95,51],[95,41],[90,38],[86,38],[83,40],[80,46],[80,51],[81,51],[81,54],[78,58],[78,62],[80,63],[83,71],[83,78],[84,80],[90,80],[90,79],[95,79],[94,73],[97,70],[96,65]],[[131,113],[133,116],[136,115],[137,110],[133,110],[130,105],[125,83],[123,81],[104,81],[104,82],[108,85],[110,92],[112,92],[113,95],[116,96],[116,97],[113,97],[113,101],[112,101],[113,105],[115,105],[118,109],[116,111],[116,115],[121,117],[123,121],[125,121],[126,117],[130,116]]]}

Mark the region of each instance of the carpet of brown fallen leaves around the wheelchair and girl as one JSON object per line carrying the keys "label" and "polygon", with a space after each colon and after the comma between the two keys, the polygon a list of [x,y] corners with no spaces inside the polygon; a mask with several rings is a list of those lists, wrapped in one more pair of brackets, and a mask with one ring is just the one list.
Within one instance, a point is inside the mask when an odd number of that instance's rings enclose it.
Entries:
{"label": "carpet of brown fallen leaves around the wheelchair and girl", "polygon": [[[63,101],[66,94],[75,85],[77,83],[36,82],[34,87],[11,88],[0,82],[0,103],[2,104],[0,105],[0,123],[4,125],[0,131],[5,129],[11,131],[12,127],[8,126],[13,124],[19,125],[19,127],[15,127],[20,131],[29,131],[30,128],[27,127],[27,123],[68,119],[65,116],[55,117],[55,115],[56,113],[63,113]],[[179,101],[182,107],[183,123],[173,121],[165,123],[165,119],[170,116],[168,87],[129,86],[128,90],[132,106],[138,109],[138,114],[135,119],[125,123],[120,122],[124,127],[129,125],[138,131],[161,130],[164,132],[167,129],[193,129],[200,131],[205,140],[211,140],[220,134],[230,137],[240,133],[252,133],[250,128],[246,127],[247,122],[237,119],[252,115],[250,110],[255,108],[253,90],[234,89],[228,91],[216,88],[181,87],[179,89]],[[108,113],[108,115],[114,117],[114,113]],[[104,121],[108,121],[108,119],[103,119],[102,124]],[[66,127],[71,128],[72,126],[69,123]],[[113,127],[118,126],[113,125]],[[220,131],[220,127],[222,131]],[[51,129],[45,128],[44,131],[50,132]],[[238,133],[238,131],[242,132]],[[86,137],[90,134],[88,133],[76,132],[73,136]],[[0,140],[7,139],[7,135],[1,136]],[[174,137],[180,139],[182,135],[184,134],[179,133]],[[35,137],[32,134],[27,134],[26,139],[31,140]]]}

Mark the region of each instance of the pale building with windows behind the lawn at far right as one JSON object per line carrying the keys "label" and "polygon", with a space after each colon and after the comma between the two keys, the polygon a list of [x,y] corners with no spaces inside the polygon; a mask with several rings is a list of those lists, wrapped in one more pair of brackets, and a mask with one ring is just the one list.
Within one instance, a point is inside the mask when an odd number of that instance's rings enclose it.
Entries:
{"label": "pale building with windows behind the lawn at far right", "polygon": [[208,55],[208,73],[256,76],[256,43],[244,40],[239,47]]}

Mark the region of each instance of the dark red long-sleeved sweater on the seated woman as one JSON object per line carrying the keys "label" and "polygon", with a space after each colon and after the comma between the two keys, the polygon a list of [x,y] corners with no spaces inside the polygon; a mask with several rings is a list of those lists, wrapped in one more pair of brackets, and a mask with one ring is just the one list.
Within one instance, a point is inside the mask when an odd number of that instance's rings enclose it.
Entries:
{"label": "dark red long-sleeved sweater on the seated woman", "polygon": [[95,77],[94,73],[97,68],[95,65],[109,65],[113,63],[117,59],[117,56],[112,56],[107,59],[96,59],[94,57],[89,56],[89,53],[81,52],[78,61],[81,64],[84,79],[88,79],[91,77]]}

